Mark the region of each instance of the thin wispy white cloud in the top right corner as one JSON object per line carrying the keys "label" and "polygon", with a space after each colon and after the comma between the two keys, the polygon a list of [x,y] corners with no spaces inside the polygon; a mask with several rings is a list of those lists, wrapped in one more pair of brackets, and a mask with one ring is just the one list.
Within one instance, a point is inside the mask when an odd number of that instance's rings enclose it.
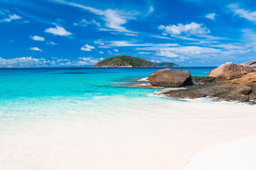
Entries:
{"label": "thin wispy white cloud in the top right corner", "polygon": [[256,11],[251,12],[250,10],[244,10],[243,8],[239,8],[238,4],[230,4],[228,8],[236,15],[239,15],[242,18],[245,18],[249,21],[256,22]]}

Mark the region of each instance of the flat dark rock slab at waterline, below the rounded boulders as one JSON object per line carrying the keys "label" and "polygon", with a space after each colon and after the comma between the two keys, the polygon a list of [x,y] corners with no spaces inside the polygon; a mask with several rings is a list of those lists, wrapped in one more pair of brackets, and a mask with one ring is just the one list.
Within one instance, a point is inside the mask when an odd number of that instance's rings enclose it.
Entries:
{"label": "flat dark rock slab at waterline, below the rounded boulders", "polygon": [[249,94],[252,88],[249,86],[193,86],[182,90],[171,90],[163,92],[170,97],[179,98],[200,98],[200,97],[217,97],[227,101],[249,101]]}

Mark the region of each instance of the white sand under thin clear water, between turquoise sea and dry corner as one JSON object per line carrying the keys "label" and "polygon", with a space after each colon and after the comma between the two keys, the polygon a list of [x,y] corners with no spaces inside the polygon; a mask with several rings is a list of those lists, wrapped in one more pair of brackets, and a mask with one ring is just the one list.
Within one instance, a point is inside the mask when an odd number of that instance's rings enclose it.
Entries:
{"label": "white sand under thin clear water, between turquoise sea and dry corner", "polygon": [[38,104],[48,115],[67,114],[3,126],[0,169],[180,170],[191,154],[256,134],[255,106],[151,97],[97,101],[93,107],[79,100],[68,107],[66,101]]}

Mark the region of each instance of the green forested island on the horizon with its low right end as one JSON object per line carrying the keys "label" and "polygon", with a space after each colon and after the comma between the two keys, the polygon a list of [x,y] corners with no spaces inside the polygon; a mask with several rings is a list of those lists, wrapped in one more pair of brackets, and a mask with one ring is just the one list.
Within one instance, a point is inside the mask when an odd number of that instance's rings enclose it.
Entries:
{"label": "green forested island on the horizon with its low right end", "polygon": [[98,62],[91,67],[161,67],[161,66],[179,66],[175,63],[163,62],[152,63],[139,57],[131,57],[127,55],[120,55],[110,57]]}

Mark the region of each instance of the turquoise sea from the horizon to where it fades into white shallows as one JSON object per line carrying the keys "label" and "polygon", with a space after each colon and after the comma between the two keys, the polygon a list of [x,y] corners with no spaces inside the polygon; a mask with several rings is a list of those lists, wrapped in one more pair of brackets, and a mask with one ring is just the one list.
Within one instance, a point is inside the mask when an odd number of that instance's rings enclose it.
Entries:
{"label": "turquoise sea from the horizon to where it fades into white shallows", "polygon": [[[207,76],[207,72],[214,68],[175,67],[189,70],[191,75],[198,76]],[[142,98],[144,101],[161,102],[166,99],[148,97],[159,89],[122,86],[126,83],[138,83],[135,79],[148,77],[161,69],[164,68],[0,69],[0,122],[74,114],[79,112],[76,108],[98,112],[99,109],[114,106],[110,100],[113,97],[123,97],[129,102]],[[118,102],[119,106],[125,105],[120,100]]]}

